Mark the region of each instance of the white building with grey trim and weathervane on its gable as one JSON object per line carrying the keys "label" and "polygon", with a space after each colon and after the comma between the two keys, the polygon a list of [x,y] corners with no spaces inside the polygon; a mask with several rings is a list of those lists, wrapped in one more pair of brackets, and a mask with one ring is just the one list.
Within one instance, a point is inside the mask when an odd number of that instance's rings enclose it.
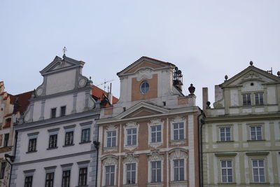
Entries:
{"label": "white building with grey trim and weathervane on its gable", "polygon": [[15,125],[10,186],[96,186],[99,109],[85,62],[55,57]]}

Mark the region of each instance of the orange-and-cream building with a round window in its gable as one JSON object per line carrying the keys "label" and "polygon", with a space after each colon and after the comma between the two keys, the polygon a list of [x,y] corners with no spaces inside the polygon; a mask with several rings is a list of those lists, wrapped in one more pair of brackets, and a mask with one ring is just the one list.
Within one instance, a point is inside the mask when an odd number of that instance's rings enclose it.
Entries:
{"label": "orange-and-cream building with a round window in its gable", "polygon": [[195,88],[181,71],[141,57],[118,73],[120,99],[102,109],[97,186],[199,186]]}

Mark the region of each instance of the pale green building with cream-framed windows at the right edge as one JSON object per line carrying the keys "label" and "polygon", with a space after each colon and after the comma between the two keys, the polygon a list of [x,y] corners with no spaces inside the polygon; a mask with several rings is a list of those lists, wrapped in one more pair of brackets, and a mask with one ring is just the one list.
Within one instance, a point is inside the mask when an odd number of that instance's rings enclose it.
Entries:
{"label": "pale green building with cream-framed windows at the right edge", "polygon": [[[216,85],[202,126],[203,186],[280,186],[280,72],[250,66]],[[204,104],[207,92],[204,88]]]}

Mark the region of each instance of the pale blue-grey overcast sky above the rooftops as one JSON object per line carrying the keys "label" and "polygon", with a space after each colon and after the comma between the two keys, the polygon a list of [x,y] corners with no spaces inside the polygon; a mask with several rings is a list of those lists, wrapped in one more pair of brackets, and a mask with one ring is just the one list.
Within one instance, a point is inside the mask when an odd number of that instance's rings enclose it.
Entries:
{"label": "pale blue-grey overcast sky above the rooftops", "polygon": [[[94,85],[142,56],[171,62],[202,106],[202,88],[223,83],[249,66],[280,71],[280,1],[1,0],[0,81],[13,95],[41,85],[55,56],[85,62]],[[108,85],[108,84],[107,84]]]}

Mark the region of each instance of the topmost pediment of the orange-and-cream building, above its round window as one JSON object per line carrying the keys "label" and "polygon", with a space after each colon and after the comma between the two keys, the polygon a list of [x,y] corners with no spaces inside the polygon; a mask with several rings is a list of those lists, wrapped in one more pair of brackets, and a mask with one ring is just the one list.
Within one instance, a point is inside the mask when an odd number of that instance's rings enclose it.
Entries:
{"label": "topmost pediment of the orange-and-cream building, above its round window", "polygon": [[130,66],[123,69],[123,71],[118,72],[118,76],[123,76],[125,74],[134,74],[139,69],[164,69],[164,68],[174,68],[175,65],[169,62],[163,62],[150,57],[141,57],[139,60],[130,64]]}

